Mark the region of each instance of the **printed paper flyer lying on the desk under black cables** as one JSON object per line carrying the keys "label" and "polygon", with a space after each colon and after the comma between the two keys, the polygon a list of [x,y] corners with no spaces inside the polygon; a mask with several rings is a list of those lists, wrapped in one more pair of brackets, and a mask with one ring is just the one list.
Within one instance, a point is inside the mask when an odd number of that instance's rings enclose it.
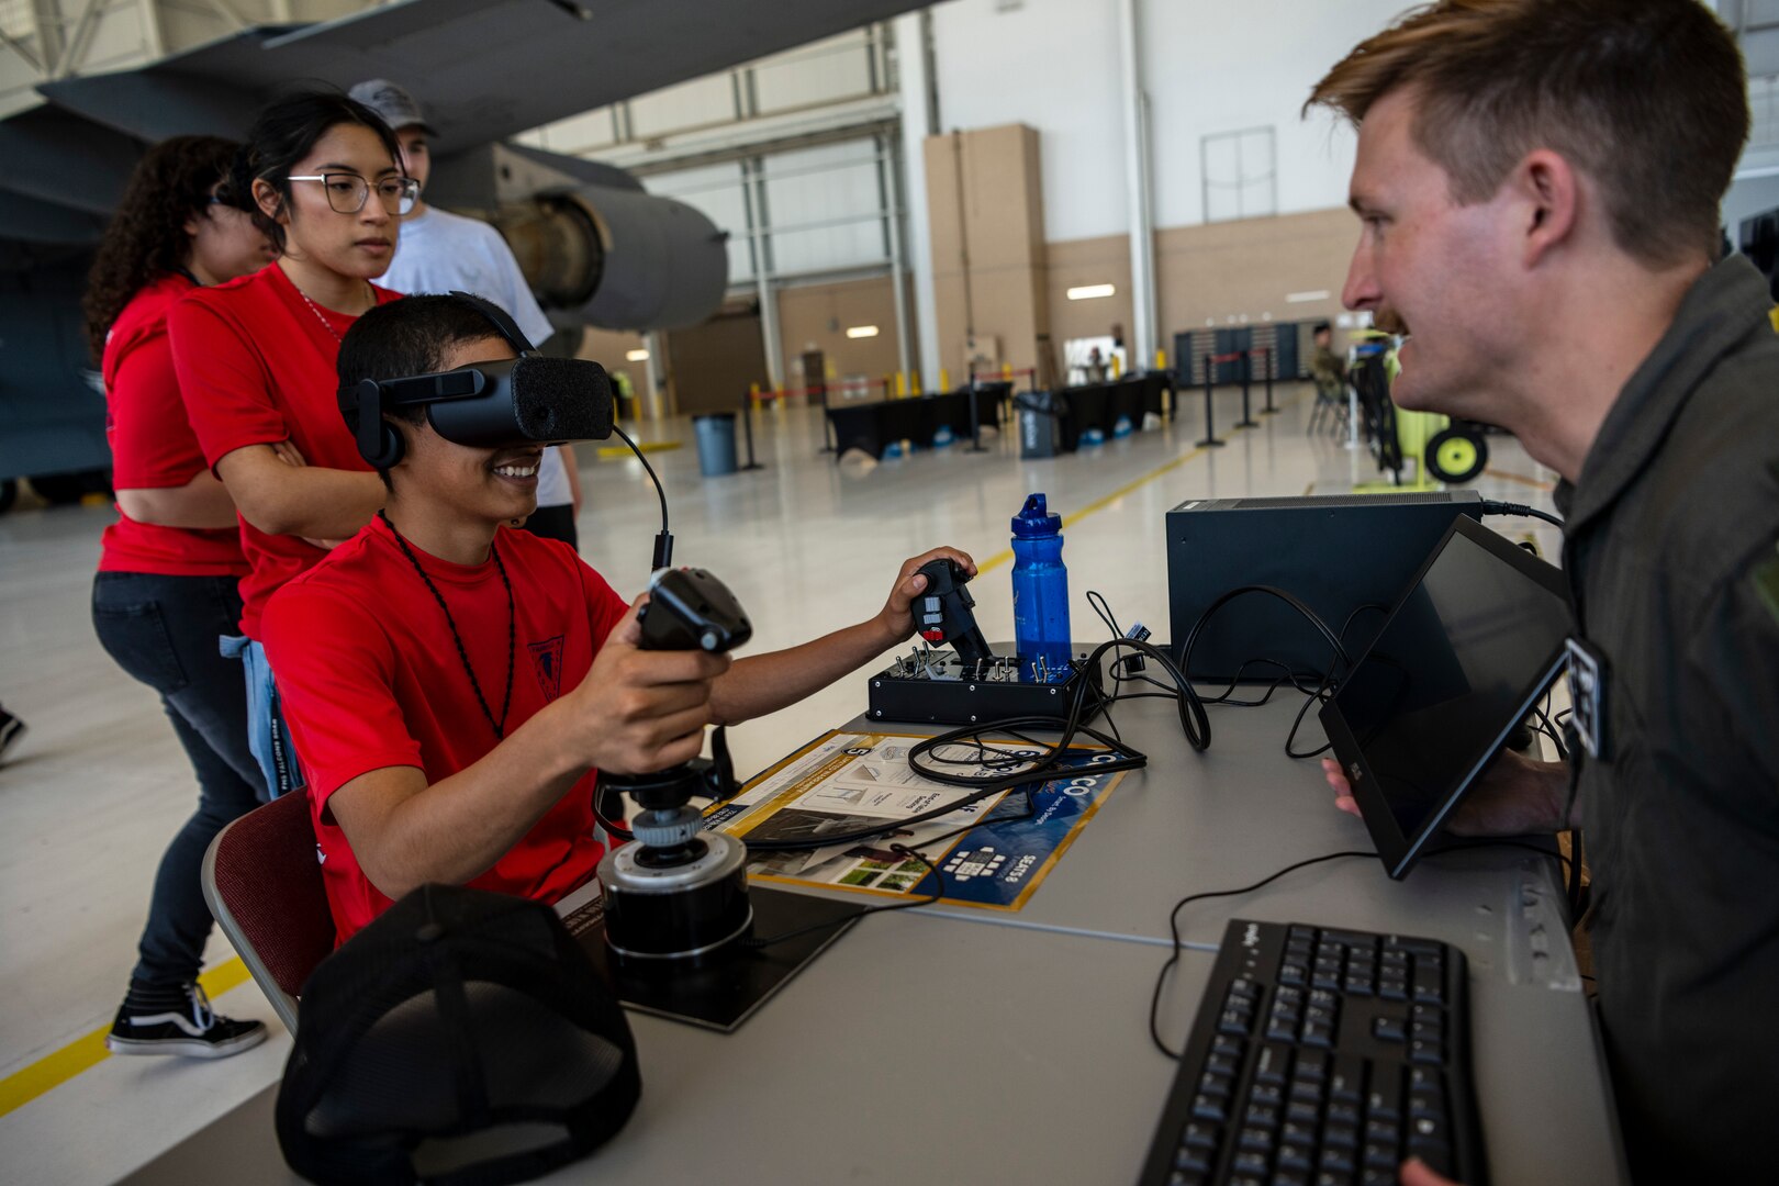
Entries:
{"label": "printed paper flyer lying on the desk under black cables", "polygon": [[[713,809],[706,827],[747,839],[818,839],[870,825],[891,827],[968,795],[966,788],[930,782],[909,770],[907,750],[922,740],[895,733],[820,736]],[[987,745],[1000,757],[1035,757],[1039,752],[1030,741],[1014,738],[991,738]],[[930,757],[950,757],[961,763],[959,773],[982,779],[1018,768],[991,770],[978,761],[982,756],[982,747],[971,743],[946,747]],[[1076,749],[1067,759],[1075,773],[1034,789],[1035,811],[1028,820],[1005,818],[1025,813],[1025,795],[1005,791],[863,845],[758,853],[749,859],[747,871],[767,882],[927,896],[934,889],[932,871],[890,850],[904,845],[945,871],[945,902],[1018,910],[1123,777],[1123,772],[1094,773],[1094,765],[1105,761],[1112,761],[1112,754],[1101,747]],[[938,839],[959,829],[968,830]]]}

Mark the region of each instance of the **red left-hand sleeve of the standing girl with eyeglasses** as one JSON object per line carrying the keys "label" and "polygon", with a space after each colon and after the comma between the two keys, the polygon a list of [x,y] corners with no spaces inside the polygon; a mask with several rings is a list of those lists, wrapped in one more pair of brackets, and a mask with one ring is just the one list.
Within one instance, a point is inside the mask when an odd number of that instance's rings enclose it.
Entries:
{"label": "red left-hand sleeve of the standing girl with eyeglasses", "polygon": [[180,395],[212,469],[237,448],[290,436],[272,402],[272,373],[263,356],[205,293],[173,306],[167,331]]}

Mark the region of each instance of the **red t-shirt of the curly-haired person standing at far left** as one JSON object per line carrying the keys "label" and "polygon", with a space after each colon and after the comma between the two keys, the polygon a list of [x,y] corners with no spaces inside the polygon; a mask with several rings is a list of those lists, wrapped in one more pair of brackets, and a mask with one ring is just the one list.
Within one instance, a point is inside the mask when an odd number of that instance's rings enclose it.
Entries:
{"label": "red t-shirt of the curly-haired person standing at far left", "polygon": [[[167,345],[167,309],[196,286],[180,274],[144,284],[105,334],[105,441],[121,491],[178,487],[205,471]],[[246,576],[247,558],[235,528],[155,526],[119,509],[100,541],[100,573]]]}

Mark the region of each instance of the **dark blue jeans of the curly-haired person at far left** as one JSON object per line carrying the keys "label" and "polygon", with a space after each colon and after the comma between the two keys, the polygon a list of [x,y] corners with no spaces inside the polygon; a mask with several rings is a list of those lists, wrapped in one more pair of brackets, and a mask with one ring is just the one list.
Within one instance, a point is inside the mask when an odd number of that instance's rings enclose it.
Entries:
{"label": "dark blue jeans of the curly-haired person at far left", "polygon": [[240,667],[217,649],[217,637],[235,631],[238,621],[233,576],[100,573],[93,581],[100,645],[160,693],[197,775],[197,811],[167,845],[155,875],[133,973],[148,983],[197,978],[212,921],[199,884],[205,850],[265,797],[265,779],[247,750]]}

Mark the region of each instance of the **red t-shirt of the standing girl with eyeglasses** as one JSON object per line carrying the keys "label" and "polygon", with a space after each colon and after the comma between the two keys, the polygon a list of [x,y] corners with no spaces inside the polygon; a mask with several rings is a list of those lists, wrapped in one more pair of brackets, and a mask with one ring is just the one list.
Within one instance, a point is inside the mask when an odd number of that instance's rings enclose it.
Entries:
{"label": "red t-shirt of the standing girl with eyeglasses", "polygon": [[[400,297],[372,288],[377,304]],[[212,469],[237,448],[288,437],[311,466],[370,471],[340,418],[334,373],[340,338],[356,320],[311,306],[276,263],[197,288],[173,306],[173,366]],[[240,629],[260,638],[265,599],[327,553],[297,535],[267,535],[246,519],[240,542],[253,565],[240,581]]]}

